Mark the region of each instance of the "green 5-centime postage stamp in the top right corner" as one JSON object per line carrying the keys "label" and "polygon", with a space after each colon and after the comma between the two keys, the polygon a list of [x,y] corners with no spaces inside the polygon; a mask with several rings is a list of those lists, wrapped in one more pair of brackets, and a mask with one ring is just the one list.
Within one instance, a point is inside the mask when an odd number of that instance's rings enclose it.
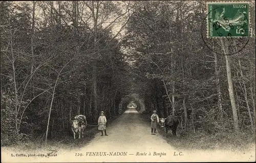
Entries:
{"label": "green 5-centime postage stamp in the top right corner", "polygon": [[249,37],[248,2],[207,3],[208,37]]}

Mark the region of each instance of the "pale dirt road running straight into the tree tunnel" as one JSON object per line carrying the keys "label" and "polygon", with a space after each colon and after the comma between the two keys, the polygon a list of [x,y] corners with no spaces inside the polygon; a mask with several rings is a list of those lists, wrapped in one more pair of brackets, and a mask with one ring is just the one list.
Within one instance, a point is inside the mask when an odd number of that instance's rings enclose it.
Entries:
{"label": "pale dirt road running straight into the tree tunnel", "polygon": [[[166,160],[168,155],[173,154],[174,148],[168,145],[161,135],[152,135],[150,132],[150,123],[146,123],[136,109],[129,109],[111,126],[107,126],[109,136],[100,136],[99,133],[88,146],[83,148],[83,154],[90,158],[92,157],[90,154],[93,155],[90,152],[106,152],[109,155],[104,158],[99,157],[99,161],[107,162],[152,161],[150,158]],[[149,153],[151,156],[148,156]]]}

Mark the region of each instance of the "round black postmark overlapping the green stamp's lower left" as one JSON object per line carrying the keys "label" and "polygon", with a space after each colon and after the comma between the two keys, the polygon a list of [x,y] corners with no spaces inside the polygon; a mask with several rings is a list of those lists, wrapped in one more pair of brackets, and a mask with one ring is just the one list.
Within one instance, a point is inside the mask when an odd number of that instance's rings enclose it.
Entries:
{"label": "round black postmark overlapping the green stamp's lower left", "polygon": [[[224,33],[222,34],[222,32],[219,32],[219,33],[217,32],[220,37],[208,37],[207,36],[208,35],[208,22],[206,22],[207,17],[208,17],[209,14],[216,14],[218,12],[217,9],[220,9],[220,8],[224,8],[224,6],[220,6],[216,9],[213,9],[212,11],[208,12],[206,14],[206,16],[203,18],[203,21],[202,21],[202,24],[201,24],[202,39],[203,39],[205,45],[207,46],[207,48],[209,50],[211,50],[212,52],[215,52],[219,55],[237,54],[237,53],[241,52],[243,49],[245,49],[245,46],[247,45],[247,43],[250,40],[250,37],[249,37],[249,34],[248,34],[248,32],[249,32],[248,29],[247,30],[239,29],[240,30],[239,32],[245,33],[245,35],[242,35],[240,37],[233,37],[230,33],[228,33],[228,35],[225,35],[223,37]],[[245,18],[245,21],[247,22],[247,24],[249,26],[249,21],[248,21],[248,18],[245,14],[244,14],[244,18]],[[224,21],[226,22],[226,24],[228,24],[229,19],[224,17]],[[218,24],[218,21],[214,25],[215,25],[216,29],[223,28],[220,24]],[[233,27],[231,22],[228,24],[228,26],[229,27],[227,27],[227,28],[232,28]],[[247,33],[247,36],[246,36],[246,33]],[[226,53],[226,54],[223,51],[223,45],[221,43],[221,39],[223,39],[223,41],[225,41],[224,46],[225,46],[225,48],[228,49],[228,53]]]}

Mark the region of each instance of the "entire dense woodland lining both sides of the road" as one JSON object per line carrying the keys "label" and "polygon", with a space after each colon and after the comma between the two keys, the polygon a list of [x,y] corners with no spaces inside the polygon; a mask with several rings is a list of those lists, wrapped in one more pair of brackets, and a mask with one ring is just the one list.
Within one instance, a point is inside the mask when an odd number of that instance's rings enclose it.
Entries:
{"label": "entire dense woodland lining both sides of the road", "polygon": [[233,132],[238,123],[240,131],[255,132],[255,37],[229,56],[236,120],[226,59],[201,36],[205,2],[0,6],[2,145],[57,139],[75,115],[96,124],[101,110],[111,119],[131,101],[144,113],[178,115],[184,131]]}

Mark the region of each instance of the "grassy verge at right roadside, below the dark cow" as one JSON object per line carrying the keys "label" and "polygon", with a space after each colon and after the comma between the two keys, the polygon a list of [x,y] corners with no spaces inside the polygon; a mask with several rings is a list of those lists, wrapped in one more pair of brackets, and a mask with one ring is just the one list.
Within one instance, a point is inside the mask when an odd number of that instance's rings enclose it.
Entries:
{"label": "grassy verge at right roadside, below the dark cow", "polygon": [[[151,123],[150,114],[142,114],[142,117],[148,123]],[[204,132],[194,133],[193,131],[184,131],[178,126],[177,137],[173,137],[169,130],[166,138],[164,128],[158,128],[158,133],[166,139],[167,143],[177,150],[228,150],[245,151],[251,148],[255,149],[255,134],[248,132],[220,132],[208,134]]]}

